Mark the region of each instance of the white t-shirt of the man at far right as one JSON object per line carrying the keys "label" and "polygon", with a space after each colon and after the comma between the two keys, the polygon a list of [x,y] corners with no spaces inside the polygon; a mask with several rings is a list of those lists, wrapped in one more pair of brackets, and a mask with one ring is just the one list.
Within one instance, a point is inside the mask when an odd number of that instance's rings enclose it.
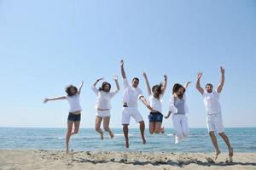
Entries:
{"label": "white t-shirt of the man at far right", "polygon": [[207,93],[207,91],[205,91],[203,97],[208,115],[217,114],[221,112],[220,103],[218,101],[219,94],[217,90],[212,91],[212,93]]}

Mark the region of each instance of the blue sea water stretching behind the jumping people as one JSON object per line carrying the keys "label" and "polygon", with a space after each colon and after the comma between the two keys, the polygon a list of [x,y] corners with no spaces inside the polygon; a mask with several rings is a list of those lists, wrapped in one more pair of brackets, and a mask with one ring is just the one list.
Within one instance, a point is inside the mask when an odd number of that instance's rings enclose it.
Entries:
{"label": "blue sea water stretching behind the jumping people", "polygon": [[[256,128],[226,128],[236,152],[256,152]],[[10,128],[0,127],[0,150],[65,150],[65,128]],[[114,139],[104,133],[102,141],[94,129],[80,129],[70,140],[71,150],[124,151],[122,129],[113,129]],[[190,129],[189,138],[174,144],[173,129],[165,134],[149,134],[147,144],[142,144],[139,129],[130,129],[131,151],[212,152],[212,142],[207,129]],[[218,137],[219,148],[227,151],[224,141]]]}

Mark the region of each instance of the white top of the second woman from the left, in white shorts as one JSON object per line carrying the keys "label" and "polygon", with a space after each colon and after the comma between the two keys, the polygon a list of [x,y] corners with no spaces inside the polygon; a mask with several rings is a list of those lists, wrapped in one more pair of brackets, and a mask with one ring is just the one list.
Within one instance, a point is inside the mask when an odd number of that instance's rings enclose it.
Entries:
{"label": "white top of the second woman from the left, in white shorts", "polygon": [[119,93],[119,90],[116,89],[113,92],[104,92],[98,90],[95,86],[91,87],[94,93],[98,96],[96,100],[96,110],[108,110],[111,109],[110,100],[113,98],[113,96],[117,93]]}

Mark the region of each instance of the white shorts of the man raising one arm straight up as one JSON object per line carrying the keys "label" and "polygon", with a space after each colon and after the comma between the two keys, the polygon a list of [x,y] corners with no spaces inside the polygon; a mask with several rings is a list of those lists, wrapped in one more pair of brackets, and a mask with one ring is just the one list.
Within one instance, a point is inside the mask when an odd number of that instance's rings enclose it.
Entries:
{"label": "white shorts of the man raising one arm straight up", "polygon": [[122,124],[129,125],[131,116],[135,119],[136,122],[143,121],[143,116],[141,115],[137,108],[123,107]]}

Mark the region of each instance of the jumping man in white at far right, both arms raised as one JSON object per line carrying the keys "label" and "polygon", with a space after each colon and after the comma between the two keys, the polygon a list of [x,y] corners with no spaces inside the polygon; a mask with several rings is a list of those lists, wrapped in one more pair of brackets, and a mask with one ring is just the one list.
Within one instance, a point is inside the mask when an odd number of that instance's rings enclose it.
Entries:
{"label": "jumping man in white at far right, both arms raised", "polygon": [[200,85],[200,79],[202,77],[201,72],[199,72],[197,76],[196,88],[204,97],[204,105],[207,111],[207,128],[208,128],[209,135],[212,139],[212,144],[215,148],[215,153],[216,153],[215,160],[218,158],[218,155],[220,154],[220,150],[218,149],[218,142],[214,134],[215,131],[218,132],[218,135],[222,139],[224,139],[225,144],[227,144],[229,148],[229,156],[231,160],[233,156],[233,148],[230,145],[229,138],[224,133],[224,125],[223,125],[222,116],[221,116],[221,107],[218,100],[219,94],[221,93],[222,88],[224,86],[224,68],[222,66],[220,67],[220,71],[221,71],[221,80],[216,90],[212,91],[213,87],[212,87],[212,84],[210,83],[207,83],[206,90],[201,88],[201,85]]}

